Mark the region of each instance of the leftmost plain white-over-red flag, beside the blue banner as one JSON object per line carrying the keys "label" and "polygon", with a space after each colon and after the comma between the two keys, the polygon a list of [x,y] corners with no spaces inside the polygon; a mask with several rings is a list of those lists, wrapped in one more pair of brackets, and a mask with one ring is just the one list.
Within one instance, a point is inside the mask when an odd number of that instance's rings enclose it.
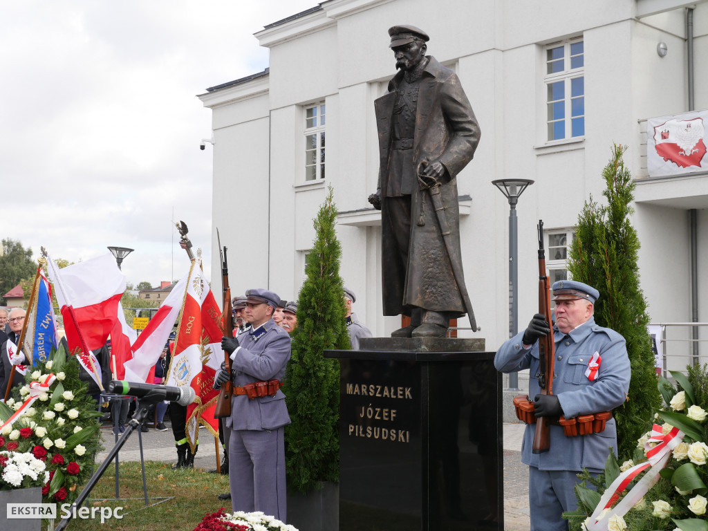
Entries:
{"label": "leftmost plain white-over-red flag, beside the blue banner", "polygon": [[102,387],[101,368],[91,350],[105,345],[118,322],[125,275],[118,269],[111,253],[61,270],[47,256],[47,273],[54,283],[59,311],[64,317],[69,353],[79,353],[77,359],[81,365]]}

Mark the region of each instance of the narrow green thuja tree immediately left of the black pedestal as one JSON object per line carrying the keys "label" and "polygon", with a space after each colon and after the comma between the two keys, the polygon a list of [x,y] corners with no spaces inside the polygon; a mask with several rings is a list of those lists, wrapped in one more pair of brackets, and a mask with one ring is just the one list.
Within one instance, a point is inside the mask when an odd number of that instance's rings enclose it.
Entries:
{"label": "narrow green thuja tree immediately left of the black pedestal", "polygon": [[307,492],[321,481],[339,479],[339,362],[324,350],[350,348],[343,283],[339,276],[341,245],[335,232],[332,188],[314,219],[316,236],[297,300],[297,328],[285,372],[287,481]]}

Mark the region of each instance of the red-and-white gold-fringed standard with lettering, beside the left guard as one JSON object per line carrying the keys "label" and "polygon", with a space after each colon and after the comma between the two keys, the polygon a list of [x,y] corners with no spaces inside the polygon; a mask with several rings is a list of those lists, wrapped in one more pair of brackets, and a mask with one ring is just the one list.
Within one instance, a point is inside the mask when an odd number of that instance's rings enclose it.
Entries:
{"label": "red-and-white gold-fringed standard with lettering, beside the left guard", "polygon": [[197,444],[200,424],[212,435],[218,435],[214,407],[219,392],[213,386],[214,375],[224,360],[220,324],[221,309],[198,261],[193,261],[166,382],[194,389],[195,401],[187,407],[186,426],[192,449]]}

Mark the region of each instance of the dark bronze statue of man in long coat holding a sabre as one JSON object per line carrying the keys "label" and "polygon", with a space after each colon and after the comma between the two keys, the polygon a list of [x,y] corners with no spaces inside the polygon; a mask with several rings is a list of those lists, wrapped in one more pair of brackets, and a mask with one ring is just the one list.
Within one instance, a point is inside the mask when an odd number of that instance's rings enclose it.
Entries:
{"label": "dark bronze statue of man in long coat holding a sabre", "polygon": [[400,72],[374,105],[381,210],[384,315],[411,325],[392,337],[445,337],[472,305],[462,275],[457,173],[472,160],[479,125],[459,78],[426,56],[429,37],[412,25],[389,29]]}

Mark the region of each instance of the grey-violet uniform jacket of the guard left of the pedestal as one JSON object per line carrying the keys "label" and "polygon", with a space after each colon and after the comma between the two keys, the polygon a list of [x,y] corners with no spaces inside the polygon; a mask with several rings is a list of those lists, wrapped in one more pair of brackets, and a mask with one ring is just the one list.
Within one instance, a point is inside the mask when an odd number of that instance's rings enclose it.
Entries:
{"label": "grey-violet uniform jacket of the guard left of the pedestal", "polygon": [[[232,361],[236,372],[234,386],[243,387],[252,382],[267,382],[285,378],[285,366],[290,360],[290,336],[273,319],[258,329],[239,336],[239,348]],[[234,430],[275,430],[290,424],[285,406],[285,394],[278,390],[275,396],[249,400],[245,394],[231,399],[231,416],[227,426]]]}

